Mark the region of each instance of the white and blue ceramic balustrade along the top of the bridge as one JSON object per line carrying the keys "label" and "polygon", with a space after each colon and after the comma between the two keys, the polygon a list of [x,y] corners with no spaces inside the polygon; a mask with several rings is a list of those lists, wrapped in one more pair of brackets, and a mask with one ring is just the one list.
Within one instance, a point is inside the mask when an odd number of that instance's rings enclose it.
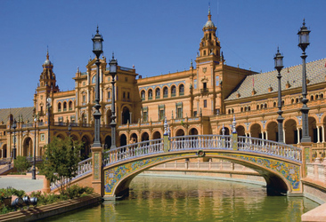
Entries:
{"label": "white and blue ceramic balustrade along the top of the bridge", "polygon": [[[174,137],[169,139],[169,153],[183,150],[234,150],[261,155],[270,155],[281,159],[302,162],[302,151],[298,147],[281,144],[265,139],[239,137],[232,147],[232,136],[230,135],[196,135]],[[109,150],[103,154],[103,165],[118,163],[127,159],[141,157],[143,155],[155,155],[163,153],[163,139],[143,141],[115,150]]]}

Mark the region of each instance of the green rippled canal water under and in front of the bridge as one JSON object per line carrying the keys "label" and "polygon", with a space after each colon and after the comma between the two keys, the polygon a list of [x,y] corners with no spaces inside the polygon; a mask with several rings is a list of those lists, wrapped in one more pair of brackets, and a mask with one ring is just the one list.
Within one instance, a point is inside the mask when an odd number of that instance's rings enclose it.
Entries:
{"label": "green rippled canal water under and in front of the bridge", "polygon": [[301,221],[319,204],[267,196],[265,188],[202,178],[138,176],[123,201],[103,202],[44,221]]}

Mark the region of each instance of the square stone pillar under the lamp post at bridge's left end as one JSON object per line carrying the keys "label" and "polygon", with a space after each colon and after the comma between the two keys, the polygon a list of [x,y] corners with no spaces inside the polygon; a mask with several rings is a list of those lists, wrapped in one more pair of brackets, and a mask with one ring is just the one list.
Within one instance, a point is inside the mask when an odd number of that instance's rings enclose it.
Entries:
{"label": "square stone pillar under the lamp post at bridge's left end", "polygon": [[102,147],[92,147],[92,170],[93,170],[93,178],[92,178],[92,187],[94,188],[94,192],[102,195]]}

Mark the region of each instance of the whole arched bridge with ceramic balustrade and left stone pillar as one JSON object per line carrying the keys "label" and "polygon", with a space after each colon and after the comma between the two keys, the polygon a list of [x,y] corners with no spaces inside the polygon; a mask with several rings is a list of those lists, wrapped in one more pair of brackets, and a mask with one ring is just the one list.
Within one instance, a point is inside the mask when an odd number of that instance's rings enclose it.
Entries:
{"label": "whole arched bridge with ceramic balustrade and left stone pillar", "polygon": [[240,163],[256,170],[265,178],[269,195],[302,194],[302,149],[265,139],[238,137],[237,134],[174,138],[165,135],[163,139],[134,143],[106,152],[102,152],[102,147],[93,147],[92,153],[92,158],[79,163],[78,175],[71,182],[88,181],[104,199],[126,194],[132,179],[143,170],[161,163],[204,156]]}

